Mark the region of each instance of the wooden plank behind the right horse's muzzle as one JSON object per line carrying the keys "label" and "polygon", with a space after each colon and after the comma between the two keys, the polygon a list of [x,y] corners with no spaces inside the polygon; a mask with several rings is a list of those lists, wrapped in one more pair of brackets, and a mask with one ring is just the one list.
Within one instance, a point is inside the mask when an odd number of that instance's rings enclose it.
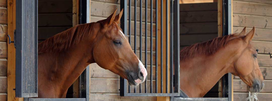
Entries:
{"label": "wooden plank behind the right horse's muzzle", "polygon": [[[233,80],[233,91],[234,92],[248,92],[249,86],[246,85],[242,80]],[[264,81],[264,88],[261,93],[271,93],[272,92],[272,81]]]}

